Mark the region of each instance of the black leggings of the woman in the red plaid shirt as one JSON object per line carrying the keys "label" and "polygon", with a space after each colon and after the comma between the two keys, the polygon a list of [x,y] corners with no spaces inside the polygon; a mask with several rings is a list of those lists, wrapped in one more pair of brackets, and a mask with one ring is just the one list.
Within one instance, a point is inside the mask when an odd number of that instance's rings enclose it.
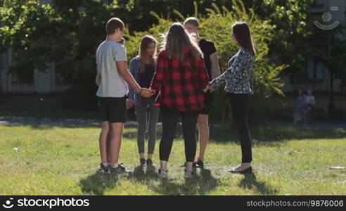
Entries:
{"label": "black leggings of the woman in the red plaid shirt", "polygon": [[186,162],[193,162],[196,155],[196,123],[198,111],[179,112],[161,106],[162,139],[160,141],[160,160],[168,161],[177,129],[179,113],[183,124]]}

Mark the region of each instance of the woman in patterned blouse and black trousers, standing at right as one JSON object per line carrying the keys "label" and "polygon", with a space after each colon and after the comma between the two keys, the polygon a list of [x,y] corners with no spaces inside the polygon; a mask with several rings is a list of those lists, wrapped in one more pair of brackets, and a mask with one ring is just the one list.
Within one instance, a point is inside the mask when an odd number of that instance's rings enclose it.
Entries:
{"label": "woman in patterned blouse and black trousers, standing at right", "polygon": [[232,26],[233,40],[240,46],[238,53],[228,63],[228,69],[213,79],[204,91],[213,91],[225,85],[229,95],[233,122],[241,139],[242,161],[238,167],[231,168],[232,173],[245,173],[252,170],[251,135],[248,129],[248,99],[253,93],[251,86],[252,65],[255,61],[255,49],[252,44],[250,27],[247,23],[235,23]]}

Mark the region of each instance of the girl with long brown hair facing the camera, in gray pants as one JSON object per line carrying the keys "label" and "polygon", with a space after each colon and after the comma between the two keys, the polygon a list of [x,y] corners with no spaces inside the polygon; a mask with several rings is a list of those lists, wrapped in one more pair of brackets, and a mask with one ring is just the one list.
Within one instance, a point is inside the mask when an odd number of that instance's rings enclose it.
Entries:
{"label": "girl with long brown hair facing the camera, in gray pants", "polygon": [[[150,82],[156,70],[156,49],[157,41],[154,37],[146,35],[141,39],[139,55],[132,58],[130,62],[130,72],[141,87],[150,87]],[[138,122],[137,146],[139,149],[140,164],[153,167],[153,153],[156,141],[156,124],[160,108],[154,105],[155,98],[142,98],[129,89],[129,98],[127,99],[127,108],[135,107]],[[148,124],[148,157],[144,156],[145,134]]]}

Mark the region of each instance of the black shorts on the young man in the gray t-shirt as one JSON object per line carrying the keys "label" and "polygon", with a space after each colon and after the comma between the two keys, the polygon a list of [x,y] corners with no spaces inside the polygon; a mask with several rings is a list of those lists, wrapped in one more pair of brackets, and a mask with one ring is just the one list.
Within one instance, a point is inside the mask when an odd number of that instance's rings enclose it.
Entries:
{"label": "black shorts on the young man in the gray t-shirt", "polygon": [[98,97],[103,122],[126,122],[126,98]]}

